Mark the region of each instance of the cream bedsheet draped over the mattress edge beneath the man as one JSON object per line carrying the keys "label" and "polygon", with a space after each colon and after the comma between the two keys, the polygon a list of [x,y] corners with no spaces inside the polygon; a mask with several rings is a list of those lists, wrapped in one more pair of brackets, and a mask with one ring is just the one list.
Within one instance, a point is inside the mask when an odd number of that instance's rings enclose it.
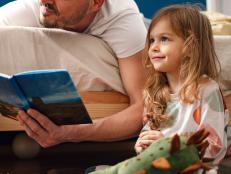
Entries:
{"label": "cream bedsheet draped over the mattress edge beneath the man", "polygon": [[68,69],[80,91],[125,93],[113,51],[102,40],[60,29],[0,27],[0,73]]}

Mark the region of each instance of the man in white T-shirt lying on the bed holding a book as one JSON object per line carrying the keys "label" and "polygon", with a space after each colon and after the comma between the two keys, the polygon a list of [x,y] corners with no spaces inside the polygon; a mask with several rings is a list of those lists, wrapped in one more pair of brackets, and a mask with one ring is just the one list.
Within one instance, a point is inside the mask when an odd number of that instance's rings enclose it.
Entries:
{"label": "man in white T-shirt lying on the bed holding a book", "polygon": [[41,146],[115,141],[139,132],[144,82],[141,54],[146,30],[133,0],[18,0],[0,8],[0,25],[44,26],[94,35],[104,40],[117,57],[130,106],[85,125],[57,126],[36,110],[20,111],[20,124]]}

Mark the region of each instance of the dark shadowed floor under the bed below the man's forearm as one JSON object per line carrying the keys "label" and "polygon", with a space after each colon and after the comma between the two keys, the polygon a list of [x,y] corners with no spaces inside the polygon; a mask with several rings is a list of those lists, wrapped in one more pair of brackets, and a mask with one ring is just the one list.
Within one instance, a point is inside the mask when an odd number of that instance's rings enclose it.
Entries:
{"label": "dark shadowed floor under the bed below the man's forearm", "polygon": [[135,141],[128,140],[114,143],[66,143],[42,149],[34,159],[22,160],[15,157],[11,149],[10,141],[14,134],[0,134],[0,174],[82,174],[90,166],[112,165],[135,155]]}

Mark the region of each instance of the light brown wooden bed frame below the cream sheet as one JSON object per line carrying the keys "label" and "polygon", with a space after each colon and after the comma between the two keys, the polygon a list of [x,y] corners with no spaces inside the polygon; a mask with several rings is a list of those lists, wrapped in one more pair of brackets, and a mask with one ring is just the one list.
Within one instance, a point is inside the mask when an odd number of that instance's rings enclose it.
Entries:
{"label": "light brown wooden bed frame below the cream sheet", "polygon": [[[92,119],[109,116],[128,107],[127,96],[118,92],[81,92],[86,108]],[[228,110],[231,111],[231,95],[225,97]],[[231,120],[229,121],[231,125]],[[0,116],[0,131],[23,130],[19,123],[13,119]]]}

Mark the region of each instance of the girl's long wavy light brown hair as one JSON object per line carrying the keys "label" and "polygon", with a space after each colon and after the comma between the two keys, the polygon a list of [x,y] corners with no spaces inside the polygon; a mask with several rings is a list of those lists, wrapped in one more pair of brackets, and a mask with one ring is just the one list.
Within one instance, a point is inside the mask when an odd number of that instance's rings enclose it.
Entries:
{"label": "girl's long wavy light brown hair", "polygon": [[[199,7],[192,5],[172,5],[161,9],[152,19],[146,39],[146,53],[150,46],[150,32],[161,20],[169,20],[173,31],[184,40],[183,57],[180,67],[182,87],[179,97],[183,103],[192,103],[198,96],[198,86],[202,75],[217,79],[220,63],[214,49],[211,24],[200,13]],[[150,58],[145,55],[144,65],[148,67],[148,80],[143,92],[146,116],[157,129],[169,121],[165,115],[170,100],[169,84],[165,73],[155,71]],[[163,123],[163,124],[162,124]]]}

